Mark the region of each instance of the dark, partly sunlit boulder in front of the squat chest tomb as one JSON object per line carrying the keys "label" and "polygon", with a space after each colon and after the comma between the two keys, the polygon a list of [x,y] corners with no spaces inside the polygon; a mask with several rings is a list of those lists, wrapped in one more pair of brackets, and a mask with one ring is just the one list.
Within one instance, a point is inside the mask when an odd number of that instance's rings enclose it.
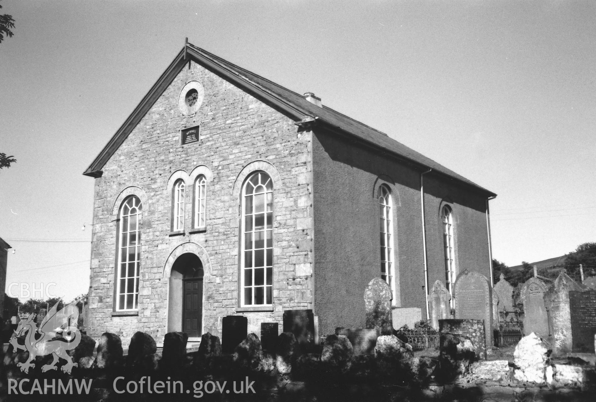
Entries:
{"label": "dark, partly sunlit boulder in front of the squat chest tomb", "polygon": [[476,360],[475,348],[468,336],[441,333],[439,346],[439,376],[443,381],[453,381],[469,372]]}

